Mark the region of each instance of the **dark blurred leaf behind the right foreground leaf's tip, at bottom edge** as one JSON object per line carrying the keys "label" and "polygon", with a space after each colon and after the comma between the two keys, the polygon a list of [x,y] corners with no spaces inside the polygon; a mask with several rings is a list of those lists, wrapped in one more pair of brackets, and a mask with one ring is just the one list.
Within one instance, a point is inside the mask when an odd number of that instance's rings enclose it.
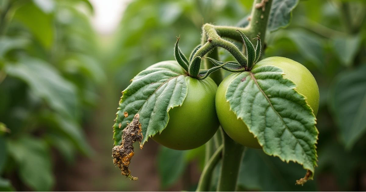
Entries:
{"label": "dark blurred leaf behind the right foreground leaf's tip, at bottom edge", "polygon": [[282,162],[259,149],[247,148],[240,165],[238,185],[246,191],[316,191],[315,182],[294,185],[294,178],[303,176],[300,165]]}

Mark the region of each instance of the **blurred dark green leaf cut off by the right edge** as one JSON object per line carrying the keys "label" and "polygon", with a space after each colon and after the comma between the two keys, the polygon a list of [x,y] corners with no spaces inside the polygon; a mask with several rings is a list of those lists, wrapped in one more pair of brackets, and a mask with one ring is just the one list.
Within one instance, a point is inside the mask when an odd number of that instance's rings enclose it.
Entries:
{"label": "blurred dark green leaf cut off by the right edge", "polygon": [[366,65],[335,78],[329,104],[347,149],[366,132]]}

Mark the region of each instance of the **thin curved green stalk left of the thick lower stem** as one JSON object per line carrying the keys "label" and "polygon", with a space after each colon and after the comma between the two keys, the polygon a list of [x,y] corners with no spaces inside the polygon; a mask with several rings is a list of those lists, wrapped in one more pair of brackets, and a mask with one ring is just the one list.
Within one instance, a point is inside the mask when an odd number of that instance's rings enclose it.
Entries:
{"label": "thin curved green stalk left of the thick lower stem", "polygon": [[199,182],[198,182],[196,191],[210,191],[212,172],[222,157],[221,152],[222,152],[223,148],[224,148],[223,145],[221,145],[219,148],[217,148],[215,153],[206,163],[205,168],[203,168],[201,177],[199,177]]}

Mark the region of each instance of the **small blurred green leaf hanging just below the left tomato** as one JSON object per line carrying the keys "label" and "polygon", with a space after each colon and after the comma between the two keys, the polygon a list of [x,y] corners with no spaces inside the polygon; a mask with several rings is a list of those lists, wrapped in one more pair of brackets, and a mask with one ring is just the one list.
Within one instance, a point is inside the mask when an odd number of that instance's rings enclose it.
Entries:
{"label": "small blurred green leaf hanging just below the left tomato", "polygon": [[187,162],[185,155],[187,151],[173,150],[167,147],[160,147],[158,153],[158,172],[160,175],[161,187],[167,188],[174,184],[182,176]]}

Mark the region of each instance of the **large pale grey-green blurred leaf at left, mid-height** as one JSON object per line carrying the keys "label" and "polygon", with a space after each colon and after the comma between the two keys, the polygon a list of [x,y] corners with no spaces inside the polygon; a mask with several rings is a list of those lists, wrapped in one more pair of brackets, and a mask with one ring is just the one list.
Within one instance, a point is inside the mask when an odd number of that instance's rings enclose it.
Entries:
{"label": "large pale grey-green blurred leaf at left, mid-height", "polygon": [[65,80],[52,65],[31,57],[22,57],[17,64],[8,64],[9,76],[22,79],[53,110],[70,118],[78,117],[78,98],[74,84]]}

